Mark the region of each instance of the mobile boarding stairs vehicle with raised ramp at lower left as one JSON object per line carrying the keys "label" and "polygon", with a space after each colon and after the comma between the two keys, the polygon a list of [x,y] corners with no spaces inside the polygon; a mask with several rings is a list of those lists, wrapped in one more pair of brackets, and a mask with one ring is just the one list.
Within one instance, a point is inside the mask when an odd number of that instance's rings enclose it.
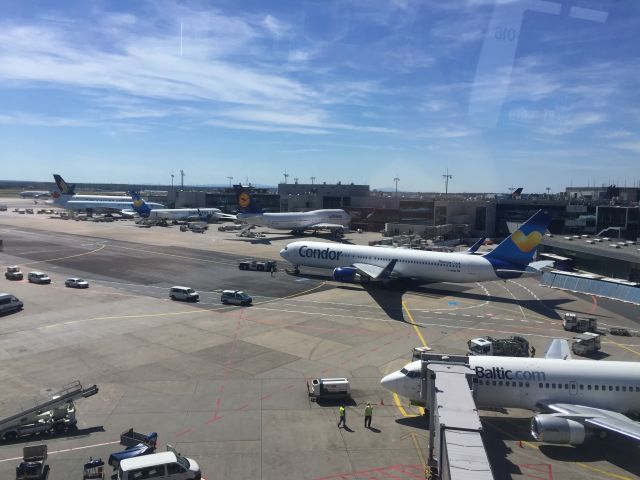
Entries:
{"label": "mobile boarding stairs vehicle with raised ramp at lower left", "polygon": [[19,436],[34,433],[61,432],[76,425],[74,400],[98,393],[92,385],[82,388],[80,382],[63,386],[60,390],[36,399],[28,406],[16,405],[15,412],[0,418],[0,438],[15,440]]}

